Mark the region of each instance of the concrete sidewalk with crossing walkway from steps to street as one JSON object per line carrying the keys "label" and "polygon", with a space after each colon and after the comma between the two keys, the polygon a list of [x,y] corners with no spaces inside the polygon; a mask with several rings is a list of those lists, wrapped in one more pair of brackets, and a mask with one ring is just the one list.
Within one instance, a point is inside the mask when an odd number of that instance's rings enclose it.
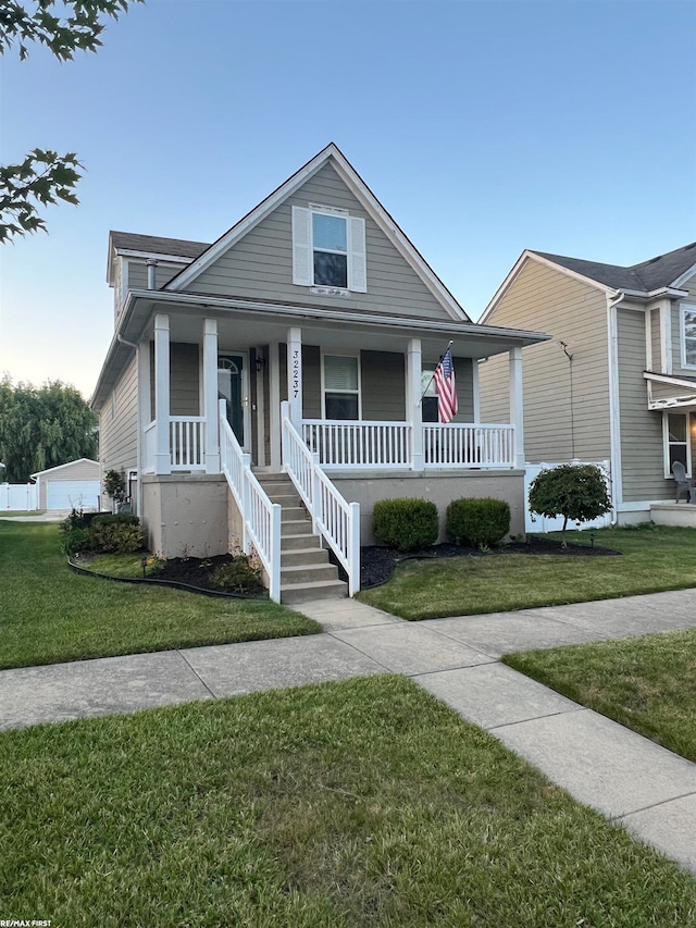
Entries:
{"label": "concrete sidewalk with crossing walkway from steps to street", "polygon": [[2,671],[0,728],[403,673],[696,874],[696,765],[498,660],[696,627],[696,591],[415,623],[350,599],[295,608],[325,633]]}

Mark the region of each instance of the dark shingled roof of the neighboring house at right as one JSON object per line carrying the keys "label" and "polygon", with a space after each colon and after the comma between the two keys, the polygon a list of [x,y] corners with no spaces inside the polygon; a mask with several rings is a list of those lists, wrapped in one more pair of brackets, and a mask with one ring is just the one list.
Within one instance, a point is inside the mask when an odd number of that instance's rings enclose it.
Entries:
{"label": "dark shingled roof of the neighboring house at right", "polygon": [[667,255],[659,255],[657,258],[650,258],[639,264],[631,264],[625,268],[620,264],[583,261],[580,258],[568,258],[564,255],[550,255],[547,251],[532,251],[531,253],[538,255],[555,264],[568,268],[569,271],[574,271],[584,277],[589,277],[614,289],[638,290],[639,293],[650,293],[662,287],[674,286],[675,281],[696,265],[696,242],[674,251],[669,251]]}

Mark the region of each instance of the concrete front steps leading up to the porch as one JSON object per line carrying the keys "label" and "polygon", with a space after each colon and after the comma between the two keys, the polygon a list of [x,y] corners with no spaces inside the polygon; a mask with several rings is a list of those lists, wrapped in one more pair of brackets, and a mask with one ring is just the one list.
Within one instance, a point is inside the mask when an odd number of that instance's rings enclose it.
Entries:
{"label": "concrete front steps leading up to the porch", "polygon": [[312,521],[300,505],[293,481],[285,473],[256,473],[272,503],[283,507],[281,522],[281,602],[286,605],[312,599],[341,599],[348,584],[328,560]]}

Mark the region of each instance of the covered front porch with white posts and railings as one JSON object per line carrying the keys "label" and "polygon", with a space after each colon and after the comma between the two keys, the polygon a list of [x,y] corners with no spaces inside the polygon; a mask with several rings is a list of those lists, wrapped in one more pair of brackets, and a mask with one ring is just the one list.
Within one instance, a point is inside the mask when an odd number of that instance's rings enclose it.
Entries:
{"label": "covered front porch with white posts and railings", "polygon": [[[273,331],[269,331],[268,322],[259,324],[256,320],[256,323],[237,326],[232,333],[225,319],[203,317],[191,320],[189,314],[182,320],[176,314],[154,315],[151,344],[144,343],[138,348],[141,473],[221,473],[220,358],[231,347],[247,359],[246,370],[239,372],[239,389],[235,394],[240,405],[238,422],[241,423],[236,429],[237,437],[258,468],[274,472],[282,469],[281,403],[284,399],[288,401],[288,416],[295,429],[325,470],[356,472],[357,475],[368,470],[423,472],[523,467],[520,345],[508,347],[509,422],[488,424],[477,421],[477,358],[486,357],[485,352],[492,352],[493,346],[485,339],[476,342],[468,337],[455,341],[456,374],[458,359],[460,364],[470,362],[471,421],[440,424],[423,421],[423,383],[447,346],[448,332],[442,335],[428,332],[426,337],[400,334],[397,338],[388,332],[381,333],[381,337],[374,333],[366,336],[359,331],[347,333],[344,329],[337,332],[335,327],[315,323],[302,327],[290,325],[284,332],[278,332],[277,320]],[[244,338],[240,338],[243,332]],[[177,388],[171,368],[172,345],[182,342],[198,345],[198,362],[191,374],[198,392],[200,414],[196,416],[172,413],[172,396]],[[306,396],[309,391],[306,389],[308,371],[303,355],[309,350],[307,346],[312,346],[311,352],[318,354],[318,344],[322,350],[325,346],[331,352],[353,354],[360,351],[361,345],[370,345],[373,349],[376,344],[382,349],[388,347],[395,356],[400,355],[405,418],[369,419],[360,416],[357,419],[330,419],[306,416],[303,407],[311,406],[311,403]],[[500,351],[500,347],[496,345],[495,350]],[[318,374],[314,369],[310,373],[313,381],[321,376],[321,372]],[[464,373],[459,371],[460,376]],[[374,392],[374,386],[372,389]],[[365,401],[364,405],[370,404]]]}

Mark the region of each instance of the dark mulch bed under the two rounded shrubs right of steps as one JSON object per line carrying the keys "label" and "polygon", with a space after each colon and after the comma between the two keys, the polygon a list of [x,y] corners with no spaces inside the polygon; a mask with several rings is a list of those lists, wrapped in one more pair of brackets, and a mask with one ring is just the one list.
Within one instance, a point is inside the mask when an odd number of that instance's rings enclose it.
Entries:
{"label": "dark mulch bed under the two rounded shrubs right of steps", "polygon": [[402,554],[396,548],[366,546],[360,549],[360,587],[368,590],[370,586],[380,586],[386,583],[394,573],[397,564],[405,560],[420,560],[436,557],[490,557],[499,554],[558,554],[576,557],[606,557],[621,554],[620,550],[611,548],[595,547],[591,545],[576,545],[569,543],[567,548],[561,547],[559,541],[552,539],[530,537],[526,542],[511,542],[482,552],[477,548],[468,548],[462,545],[440,544],[432,545],[422,550]]}

